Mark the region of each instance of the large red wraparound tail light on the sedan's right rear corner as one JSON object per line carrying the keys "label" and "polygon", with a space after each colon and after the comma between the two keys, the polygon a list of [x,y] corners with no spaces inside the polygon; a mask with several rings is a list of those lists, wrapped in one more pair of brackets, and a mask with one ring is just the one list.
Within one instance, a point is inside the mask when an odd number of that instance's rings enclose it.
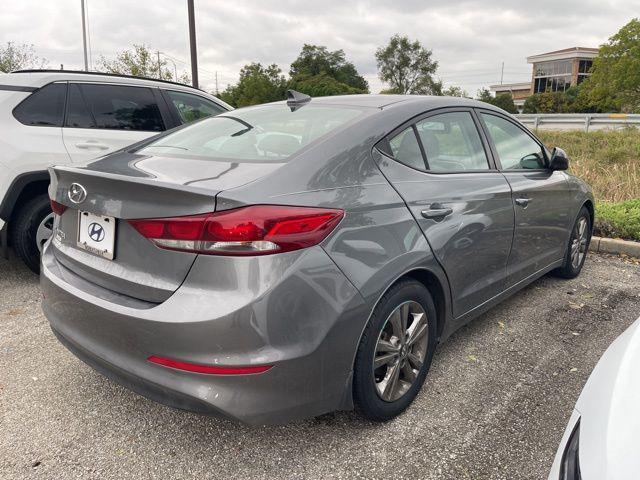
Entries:
{"label": "large red wraparound tail light on the sedan's right rear corner", "polygon": [[189,217],[129,220],[160,248],[207,255],[268,255],[320,243],[342,210],[254,205]]}

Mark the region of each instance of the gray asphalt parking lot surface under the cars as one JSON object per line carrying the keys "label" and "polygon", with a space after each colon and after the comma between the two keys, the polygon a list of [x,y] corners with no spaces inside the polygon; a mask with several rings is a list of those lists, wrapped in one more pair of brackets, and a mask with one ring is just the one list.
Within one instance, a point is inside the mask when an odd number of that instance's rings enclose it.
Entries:
{"label": "gray asphalt parking lot surface under the cars", "polygon": [[51,333],[37,278],[0,259],[0,478],[546,479],[591,369],[638,315],[638,262],[591,255],[456,333],[396,420],[248,427],[93,372]]}

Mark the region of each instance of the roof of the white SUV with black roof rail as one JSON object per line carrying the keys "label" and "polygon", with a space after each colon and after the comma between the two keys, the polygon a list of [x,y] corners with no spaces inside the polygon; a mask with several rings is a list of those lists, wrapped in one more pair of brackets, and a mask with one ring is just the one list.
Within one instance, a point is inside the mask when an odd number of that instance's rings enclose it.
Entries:
{"label": "roof of the white SUV with black roof rail", "polygon": [[85,72],[78,70],[16,70],[14,72],[0,75],[0,84],[16,85],[22,87],[40,88],[51,82],[63,80],[82,80],[88,82],[123,83],[131,85],[145,85],[152,87],[177,88],[185,91],[197,91],[211,96],[210,93],[185,85],[183,83],[171,82],[168,80],[158,80],[155,78],[137,77],[133,75],[120,75],[115,73]]}

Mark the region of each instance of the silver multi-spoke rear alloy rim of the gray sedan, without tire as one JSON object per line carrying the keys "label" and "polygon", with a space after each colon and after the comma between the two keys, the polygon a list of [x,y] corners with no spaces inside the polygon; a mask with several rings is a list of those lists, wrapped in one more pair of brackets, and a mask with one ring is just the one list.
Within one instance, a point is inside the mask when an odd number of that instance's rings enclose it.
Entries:
{"label": "silver multi-spoke rear alloy rim of the gray sedan, without tire", "polygon": [[373,377],[378,396],[394,402],[411,388],[425,361],[429,341],[427,313],[409,301],[387,318],[376,344]]}

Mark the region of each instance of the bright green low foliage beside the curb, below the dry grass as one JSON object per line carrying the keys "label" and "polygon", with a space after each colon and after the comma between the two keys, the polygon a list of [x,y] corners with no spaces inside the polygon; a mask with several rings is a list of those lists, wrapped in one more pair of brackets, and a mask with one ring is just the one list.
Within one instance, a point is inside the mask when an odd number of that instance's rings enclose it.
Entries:
{"label": "bright green low foliage beside the curb, below the dry grass", "polygon": [[640,198],[597,203],[594,233],[601,237],[640,241]]}

